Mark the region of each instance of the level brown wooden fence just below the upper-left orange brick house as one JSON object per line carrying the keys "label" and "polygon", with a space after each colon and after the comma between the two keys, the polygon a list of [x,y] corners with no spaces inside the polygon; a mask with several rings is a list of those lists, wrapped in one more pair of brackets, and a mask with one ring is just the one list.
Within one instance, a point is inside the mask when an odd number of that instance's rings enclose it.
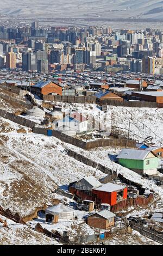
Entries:
{"label": "level brown wooden fence just below the upper-left orange brick house", "polygon": [[43,101],[60,101],[67,103],[96,103],[96,96],[43,95]]}

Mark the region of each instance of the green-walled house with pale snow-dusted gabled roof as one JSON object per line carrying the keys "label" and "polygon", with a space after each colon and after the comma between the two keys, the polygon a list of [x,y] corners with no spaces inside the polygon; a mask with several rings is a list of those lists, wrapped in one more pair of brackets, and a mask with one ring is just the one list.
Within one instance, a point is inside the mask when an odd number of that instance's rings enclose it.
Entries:
{"label": "green-walled house with pale snow-dusted gabled roof", "polygon": [[147,149],[122,149],[116,158],[121,166],[141,175],[156,174],[159,165],[158,157]]}

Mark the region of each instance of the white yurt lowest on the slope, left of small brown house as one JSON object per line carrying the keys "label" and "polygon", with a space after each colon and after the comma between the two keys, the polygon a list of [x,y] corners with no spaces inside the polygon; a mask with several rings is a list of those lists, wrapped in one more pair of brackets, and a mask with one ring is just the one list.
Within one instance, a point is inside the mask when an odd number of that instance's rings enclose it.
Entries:
{"label": "white yurt lowest on the slope, left of small brown house", "polygon": [[64,204],[58,204],[48,207],[45,214],[51,214],[53,216],[58,215],[58,220],[73,220],[74,210]]}

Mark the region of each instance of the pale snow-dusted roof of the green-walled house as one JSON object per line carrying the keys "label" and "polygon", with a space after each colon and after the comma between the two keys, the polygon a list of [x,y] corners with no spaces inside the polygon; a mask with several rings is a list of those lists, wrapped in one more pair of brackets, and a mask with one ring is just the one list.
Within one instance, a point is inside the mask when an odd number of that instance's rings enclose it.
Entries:
{"label": "pale snow-dusted roof of the green-walled house", "polygon": [[117,159],[145,160],[149,150],[144,149],[122,149]]}

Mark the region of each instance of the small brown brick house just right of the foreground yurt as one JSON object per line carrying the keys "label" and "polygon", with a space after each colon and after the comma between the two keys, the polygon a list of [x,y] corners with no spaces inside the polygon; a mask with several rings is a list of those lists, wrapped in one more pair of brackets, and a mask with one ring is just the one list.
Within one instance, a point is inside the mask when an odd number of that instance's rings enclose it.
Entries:
{"label": "small brown brick house just right of the foreground yurt", "polygon": [[115,216],[115,214],[108,210],[102,210],[89,215],[86,223],[93,228],[109,229],[114,226]]}

